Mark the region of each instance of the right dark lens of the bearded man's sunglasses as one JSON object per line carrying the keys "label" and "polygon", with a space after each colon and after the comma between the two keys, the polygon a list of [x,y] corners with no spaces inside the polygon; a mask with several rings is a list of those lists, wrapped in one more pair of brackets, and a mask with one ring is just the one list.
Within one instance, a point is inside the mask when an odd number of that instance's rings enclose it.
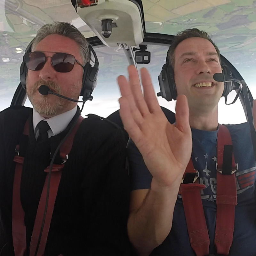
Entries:
{"label": "right dark lens of the bearded man's sunglasses", "polygon": [[70,72],[75,64],[75,57],[68,53],[55,53],[52,56],[52,65],[57,72]]}

